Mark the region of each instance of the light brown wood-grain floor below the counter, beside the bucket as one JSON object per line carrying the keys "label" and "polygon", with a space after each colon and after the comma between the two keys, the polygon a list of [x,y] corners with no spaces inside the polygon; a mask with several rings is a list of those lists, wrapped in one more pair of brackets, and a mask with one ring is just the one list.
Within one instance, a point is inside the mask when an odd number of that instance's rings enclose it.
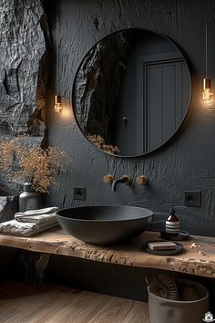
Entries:
{"label": "light brown wood-grain floor below the counter, beside the bucket", "polygon": [[0,322],[149,323],[148,304],[54,285],[0,285]]}

